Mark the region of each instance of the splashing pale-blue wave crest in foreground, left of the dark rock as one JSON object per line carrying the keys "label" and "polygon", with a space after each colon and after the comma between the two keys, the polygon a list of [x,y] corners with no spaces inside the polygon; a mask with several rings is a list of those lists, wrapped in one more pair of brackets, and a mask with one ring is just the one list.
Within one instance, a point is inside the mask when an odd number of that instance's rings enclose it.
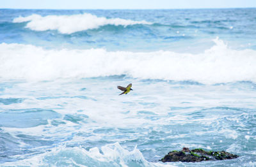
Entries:
{"label": "splashing pale-blue wave crest in foreground, left of the dark rock", "polygon": [[149,163],[136,147],[129,151],[119,143],[105,145],[100,150],[95,147],[85,150],[81,147],[56,147],[50,152],[37,155],[14,163],[4,163],[3,166],[172,166],[163,163]]}

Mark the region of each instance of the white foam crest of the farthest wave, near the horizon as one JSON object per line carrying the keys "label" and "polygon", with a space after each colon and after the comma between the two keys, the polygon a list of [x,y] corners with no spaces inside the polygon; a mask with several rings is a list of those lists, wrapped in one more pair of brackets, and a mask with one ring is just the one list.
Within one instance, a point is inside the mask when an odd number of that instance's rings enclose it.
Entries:
{"label": "white foam crest of the farthest wave, near the horizon", "polygon": [[146,21],[125,20],[122,18],[97,17],[90,13],[80,15],[30,15],[28,17],[17,17],[13,22],[28,22],[27,28],[34,31],[58,30],[63,34],[72,34],[87,29],[97,29],[102,25],[134,25],[152,24]]}

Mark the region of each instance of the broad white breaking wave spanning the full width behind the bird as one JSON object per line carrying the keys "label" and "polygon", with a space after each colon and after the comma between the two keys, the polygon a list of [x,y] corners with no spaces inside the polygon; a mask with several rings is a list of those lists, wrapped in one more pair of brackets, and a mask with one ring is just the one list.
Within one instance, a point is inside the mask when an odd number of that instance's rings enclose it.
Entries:
{"label": "broad white breaking wave spanning the full width behind the bird", "polygon": [[256,51],[232,50],[218,38],[202,54],[47,50],[21,44],[0,44],[0,77],[54,80],[129,75],[133,78],[190,80],[199,83],[256,82]]}

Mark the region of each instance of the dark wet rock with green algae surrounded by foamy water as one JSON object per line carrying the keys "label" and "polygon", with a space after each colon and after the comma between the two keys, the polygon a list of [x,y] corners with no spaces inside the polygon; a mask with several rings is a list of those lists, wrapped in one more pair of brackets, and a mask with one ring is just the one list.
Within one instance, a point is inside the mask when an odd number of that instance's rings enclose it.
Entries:
{"label": "dark wet rock with green algae surrounded by foamy water", "polygon": [[224,159],[234,159],[239,156],[230,154],[225,151],[205,151],[203,149],[193,149],[184,147],[182,150],[173,150],[164,156],[161,160],[163,163],[166,162],[200,162],[200,161],[215,161]]}

